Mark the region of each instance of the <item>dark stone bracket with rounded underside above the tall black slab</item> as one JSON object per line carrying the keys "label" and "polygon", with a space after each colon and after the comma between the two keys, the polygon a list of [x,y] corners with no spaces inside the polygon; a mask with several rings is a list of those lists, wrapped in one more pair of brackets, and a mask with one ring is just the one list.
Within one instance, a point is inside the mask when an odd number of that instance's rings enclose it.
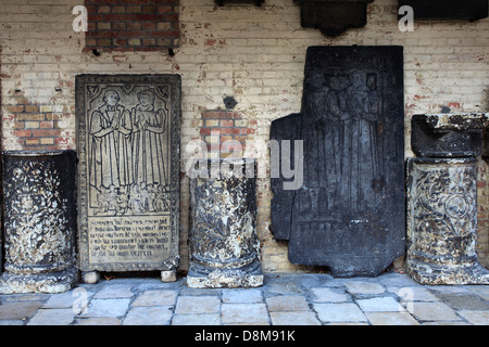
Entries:
{"label": "dark stone bracket with rounded underside above the tall black slab", "polygon": [[301,7],[301,26],[338,36],[349,28],[366,25],[367,3],[373,0],[293,0]]}

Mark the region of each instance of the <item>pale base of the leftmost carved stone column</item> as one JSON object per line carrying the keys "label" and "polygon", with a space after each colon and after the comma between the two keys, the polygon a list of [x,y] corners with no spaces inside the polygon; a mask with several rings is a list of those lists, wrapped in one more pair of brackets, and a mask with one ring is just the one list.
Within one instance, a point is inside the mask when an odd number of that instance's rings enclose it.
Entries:
{"label": "pale base of the leftmost carved stone column", "polygon": [[64,293],[71,291],[77,282],[76,268],[47,273],[4,272],[0,279],[0,294]]}

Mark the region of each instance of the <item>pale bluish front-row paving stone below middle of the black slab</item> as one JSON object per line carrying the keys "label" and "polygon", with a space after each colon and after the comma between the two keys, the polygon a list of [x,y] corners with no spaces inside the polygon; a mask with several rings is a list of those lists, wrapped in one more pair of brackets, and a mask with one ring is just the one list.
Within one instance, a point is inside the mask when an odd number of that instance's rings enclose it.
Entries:
{"label": "pale bluish front-row paving stone below middle of the black slab", "polygon": [[355,304],[314,304],[314,310],[323,323],[367,321],[365,314]]}

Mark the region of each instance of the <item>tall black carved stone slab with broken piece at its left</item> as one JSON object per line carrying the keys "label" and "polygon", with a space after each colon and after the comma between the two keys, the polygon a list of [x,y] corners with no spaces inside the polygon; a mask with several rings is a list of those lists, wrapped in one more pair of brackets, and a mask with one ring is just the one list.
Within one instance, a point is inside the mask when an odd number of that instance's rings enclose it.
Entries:
{"label": "tall black carved stone slab with broken piece at its left", "polygon": [[403,255],[402,62],[401,47],[308,49],[301,120],[271,131],[303,141],[302,187],[272,179],[272,230],[289,240],[291,262],[377,275]]}

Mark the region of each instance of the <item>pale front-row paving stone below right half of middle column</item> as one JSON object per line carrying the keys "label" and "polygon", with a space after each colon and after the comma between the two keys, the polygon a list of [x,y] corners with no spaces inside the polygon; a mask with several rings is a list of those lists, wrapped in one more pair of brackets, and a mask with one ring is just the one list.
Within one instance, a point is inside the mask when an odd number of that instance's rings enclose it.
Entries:
{"label": "pale front-row paving stone below right half of middle column", "polygon": [[269,324],[265,304],[223,304],[223,324]]}

